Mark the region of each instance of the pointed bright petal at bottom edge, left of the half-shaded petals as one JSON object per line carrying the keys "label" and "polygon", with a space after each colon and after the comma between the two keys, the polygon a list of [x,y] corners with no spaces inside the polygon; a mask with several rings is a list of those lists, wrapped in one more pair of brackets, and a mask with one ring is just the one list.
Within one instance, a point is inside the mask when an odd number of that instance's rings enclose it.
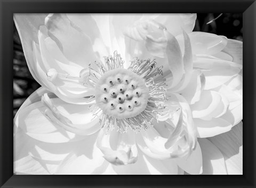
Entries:
{"label": "pointed bright petal at bottom edge, left of the half-shaded petals", "polygon": [[179,167],[189,174],[202,173],[202,152],[198,142],[196,144],[196,149],[191,153],[190,156],[185,156],[175,160],[177,161]]}

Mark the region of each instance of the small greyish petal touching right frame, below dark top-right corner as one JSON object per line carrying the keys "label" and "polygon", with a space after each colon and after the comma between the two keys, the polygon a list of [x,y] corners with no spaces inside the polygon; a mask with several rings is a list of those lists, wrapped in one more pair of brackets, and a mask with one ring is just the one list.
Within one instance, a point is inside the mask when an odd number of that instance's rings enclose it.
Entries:
{"label": "small greyish petal touching right frame, below dark top-right corner", "polygon": [[243,42],[228,39],[228,44],[222,52],[229,54],[233,62],[243,64]]}

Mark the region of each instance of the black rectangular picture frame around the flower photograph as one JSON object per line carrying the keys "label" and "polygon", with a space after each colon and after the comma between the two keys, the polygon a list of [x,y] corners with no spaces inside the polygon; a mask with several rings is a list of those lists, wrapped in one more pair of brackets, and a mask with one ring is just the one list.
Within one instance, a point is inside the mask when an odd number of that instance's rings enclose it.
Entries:
{"label": "black rectangular picture frame around the flower photograph", "polygon": [[[13,175],[13,13],[243,13],[243,175]],[[255,187],[256,2],[0,0],[1,187]]]}

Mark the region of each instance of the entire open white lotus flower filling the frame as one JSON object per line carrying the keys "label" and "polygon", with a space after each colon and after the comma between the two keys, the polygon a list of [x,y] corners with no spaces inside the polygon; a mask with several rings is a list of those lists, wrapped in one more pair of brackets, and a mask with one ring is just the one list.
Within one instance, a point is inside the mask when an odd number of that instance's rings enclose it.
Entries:
{"label": "entire open white lotus flower filling the frame", "polygon": [[42,87],[14,118],[14,173],[242,174],[242,42],[195,20],[15,14]]}

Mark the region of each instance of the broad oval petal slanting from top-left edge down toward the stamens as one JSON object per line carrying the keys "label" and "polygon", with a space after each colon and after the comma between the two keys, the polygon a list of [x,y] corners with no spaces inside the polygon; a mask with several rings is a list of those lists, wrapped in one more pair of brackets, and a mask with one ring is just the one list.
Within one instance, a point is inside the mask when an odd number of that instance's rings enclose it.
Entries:
{"label": "broad oval petal slanting from top-left edge down toward the stamens", "polygon": [[77,28],[66,14],[49,14],[45,18],[45,26],[69,61],[86,67],[97,60],[90,37]]}

